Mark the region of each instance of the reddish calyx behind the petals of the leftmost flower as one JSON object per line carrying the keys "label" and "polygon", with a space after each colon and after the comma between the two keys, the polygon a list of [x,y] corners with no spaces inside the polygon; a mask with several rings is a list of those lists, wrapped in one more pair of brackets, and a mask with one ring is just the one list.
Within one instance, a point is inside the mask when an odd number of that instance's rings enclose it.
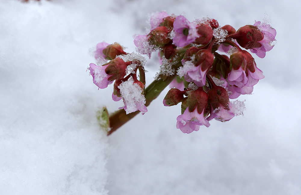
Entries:
{"label": "reddish calyx behind the petals of the leftmost flower", "polygon": [[[110,62],[104,65],[109,65],[105,69],[106,74],[112,75],[108,78],[109,81],[123,78],[126,75],[126,67],[131,62],[124,62],[121,58],[112,59]],[[104,66],[103,65],[103,66]]]}

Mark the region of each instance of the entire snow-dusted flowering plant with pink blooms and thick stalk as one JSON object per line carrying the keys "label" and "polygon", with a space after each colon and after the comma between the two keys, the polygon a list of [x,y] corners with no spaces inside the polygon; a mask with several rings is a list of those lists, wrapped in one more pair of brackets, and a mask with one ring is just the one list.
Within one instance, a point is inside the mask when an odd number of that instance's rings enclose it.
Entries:
{"label": "entire snow-dusted flowering plant with pink blooms and thick stalk", "polygon": [[213,119],[225,122],[243,114],[244,102],[230,99],[251,94],[264,78],[251,53],[263,58],[274,47],[276,30],[270,23],[256,22],[236,31],[208,17],[190,22],[182,15],[157,12],[149,24],[144,35],[135,35],[134,43],[138,53],[149,57],[159,51],[160,71],[151,84],[145,83],[143,56],[126,53],[118,43],[96,45],[97,65],[88,68],[93,83],[98,89],[114,83],[112,99],[124,103],[110,115],[105,108],[98,112],[108,135],[136,114],[145,114],[167,86],[172,88],[163,105],[181,103],[175,127],[183,133],[209,127]]}

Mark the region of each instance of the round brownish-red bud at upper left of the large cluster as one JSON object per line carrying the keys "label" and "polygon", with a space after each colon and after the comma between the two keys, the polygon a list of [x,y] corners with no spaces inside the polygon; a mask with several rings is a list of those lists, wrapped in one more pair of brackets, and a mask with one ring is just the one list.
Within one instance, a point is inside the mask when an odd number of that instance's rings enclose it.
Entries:
{"label": "round brownish-red bud at upper left of the large cluster", "polygon": [[166,26],[159,26],[148,34],[148,41],[151,45],[163,47],[170,41],[169,32],[170,30]]}

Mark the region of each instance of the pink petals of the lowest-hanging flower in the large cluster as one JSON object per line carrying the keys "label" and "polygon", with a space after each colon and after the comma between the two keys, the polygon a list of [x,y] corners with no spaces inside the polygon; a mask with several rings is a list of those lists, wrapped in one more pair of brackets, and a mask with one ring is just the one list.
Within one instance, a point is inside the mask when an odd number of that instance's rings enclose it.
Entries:
{"label": "pink petals of the lowest-hanging flower in the large cluster", "polygon": [[188,111],[188,107],[183,114],[177,117],[177,129],[180,129],[183,133],[191,133],[199,130],[199,125],[205,125],[209,127],[209,121],[204,118],[204,111],[202,113],[197,112],[197,108],[193,112]]}

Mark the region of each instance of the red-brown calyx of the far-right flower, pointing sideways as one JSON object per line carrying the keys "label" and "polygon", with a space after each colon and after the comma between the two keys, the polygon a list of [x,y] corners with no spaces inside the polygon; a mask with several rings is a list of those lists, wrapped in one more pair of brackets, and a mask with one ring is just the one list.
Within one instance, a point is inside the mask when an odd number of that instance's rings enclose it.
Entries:
{"label": "red-brown calyx of the far-right flower, pointing sideways", "polygon": [[261,47],[261,44],[258,41],[261,41],[264,38],[264,35],[256,26],[246,25],[240,27],[235,34],[229,37],[236,39],[241,47],[251,49]]}

